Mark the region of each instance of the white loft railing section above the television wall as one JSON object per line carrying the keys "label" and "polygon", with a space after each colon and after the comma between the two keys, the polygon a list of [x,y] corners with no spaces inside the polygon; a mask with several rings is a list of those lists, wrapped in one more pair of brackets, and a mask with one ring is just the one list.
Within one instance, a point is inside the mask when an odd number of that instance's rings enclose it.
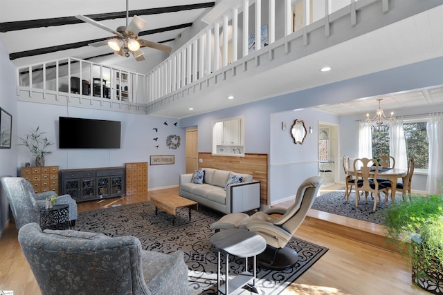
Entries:
{"label": "white loft railing section above the television wall", "polygon": [[145,75],[73,57],[17,68],[17,83],[19,99],[31,102],[141,113],[147,104]]}

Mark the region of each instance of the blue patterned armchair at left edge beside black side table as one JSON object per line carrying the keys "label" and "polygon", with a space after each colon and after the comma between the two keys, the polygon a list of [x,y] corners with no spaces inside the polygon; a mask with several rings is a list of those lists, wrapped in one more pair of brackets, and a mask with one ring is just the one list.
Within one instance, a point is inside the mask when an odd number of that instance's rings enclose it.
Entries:
{"label": "blue patterned armchair at left edge beside black side table", "polygon": [[[33,184],[20,177],[3,177],[0,181],[15,219],[15,227],[20,229],[29,222],[39,223],[40,209],[45,207],[46,198],[55,193],[53,191],[35,193]],[[63,195],[57,197],[57,204],[69,205],[69,220],[72,226],[75,225],[77,202],[71,196]]]}

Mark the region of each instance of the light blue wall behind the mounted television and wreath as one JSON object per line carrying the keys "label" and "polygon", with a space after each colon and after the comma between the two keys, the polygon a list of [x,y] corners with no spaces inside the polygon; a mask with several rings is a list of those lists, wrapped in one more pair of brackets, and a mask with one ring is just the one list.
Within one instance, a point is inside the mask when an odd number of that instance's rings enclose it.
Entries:
{"label": "light blue wall behind the mounted television and wreath", "polygon": [[[134,115],[129,113],[98,111],[87,108],[67,108],[51,104],[19,102],[18,136],[24,137],[32,128],[39,126],[46,132],[53,153],[45,157],[46,166],[57,165],[59,169],[82,169],[108,166],[123,166],[125,162],[150,162],[150,155],[175,155],[175,164],[149,166],[148,187],[150,189],[177,185],[179,173],[185,171],[185,131],[174,123],[179,120]],[[120,149],[58,149],[58,117],[82,117],[98,120],[122,122]],[[168,126],[164,124],[167,122]],[[156,133],[153,128],[158,128]],[[179,135],[179,149],[166,146],[168,135]],[[155,141],[154,138],[158,137]],[[159,148],[156,148],[159,145]],[[25,146],[17,146],[19,151],[17,167],[25,162],[34,165],[34,159]]]}

